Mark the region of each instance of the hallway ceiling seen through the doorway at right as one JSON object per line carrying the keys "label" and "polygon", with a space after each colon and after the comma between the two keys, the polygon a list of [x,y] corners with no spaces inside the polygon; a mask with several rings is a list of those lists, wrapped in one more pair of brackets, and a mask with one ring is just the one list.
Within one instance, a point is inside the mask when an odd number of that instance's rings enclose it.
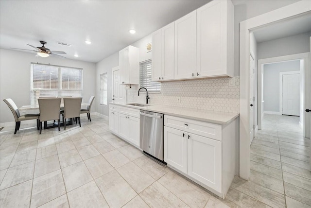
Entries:
{"label": "hallway ceiling seen through the doorway at right", "polygon": [[254,31],[257,43],[311,31],[311,13],[282,22],[276,22]]}

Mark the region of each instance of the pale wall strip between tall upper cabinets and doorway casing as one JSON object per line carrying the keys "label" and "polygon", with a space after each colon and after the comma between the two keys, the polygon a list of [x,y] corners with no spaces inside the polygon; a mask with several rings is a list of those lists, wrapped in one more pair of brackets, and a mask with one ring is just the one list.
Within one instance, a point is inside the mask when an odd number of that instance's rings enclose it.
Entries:
{"label": "pale wall strip between tall upper cabinets and doorway casing", "polygon": [[[234,2],[234,76],[240,75],[240,22],[287,6],[299,0],[233,0]],[[260,59],[258,57],[258,59]]]}

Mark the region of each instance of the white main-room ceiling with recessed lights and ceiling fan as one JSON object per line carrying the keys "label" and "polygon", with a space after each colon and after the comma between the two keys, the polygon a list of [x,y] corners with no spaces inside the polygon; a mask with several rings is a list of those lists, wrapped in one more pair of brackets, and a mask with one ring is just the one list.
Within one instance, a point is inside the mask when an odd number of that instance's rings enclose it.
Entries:
{"label": "white main-room ceiling with recessed lights and ceiling fan", "polygon": [[[26,43],[38,47],[43,40],[51,51],[64,51],[69,59],[96,63],[208,1],[1,0],[0,48],[32,50]],[[130,34],[130,29],[137,33]]]}

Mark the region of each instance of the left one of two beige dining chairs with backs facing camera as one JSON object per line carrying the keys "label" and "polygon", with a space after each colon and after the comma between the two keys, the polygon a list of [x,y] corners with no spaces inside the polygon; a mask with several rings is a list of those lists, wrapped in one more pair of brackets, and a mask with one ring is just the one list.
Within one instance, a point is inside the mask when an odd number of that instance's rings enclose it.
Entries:
{"label": "left one of two beige dining chairs with backs facing camera", "polygon": [[60,131],[60,115],[59,115],[59,109],[60,109],[60,101],[61,98],[44,98],[44,99],[38,99],[39,104],[39,130],[40,134],[42,131],[42,121],[52,121],[57,120],[58,121],[58,131]]}

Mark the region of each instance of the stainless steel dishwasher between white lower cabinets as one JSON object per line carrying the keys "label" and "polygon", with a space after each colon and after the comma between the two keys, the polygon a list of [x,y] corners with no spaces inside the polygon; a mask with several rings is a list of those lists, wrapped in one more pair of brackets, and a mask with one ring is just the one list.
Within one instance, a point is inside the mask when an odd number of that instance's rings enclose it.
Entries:
{"label": "stainless steel dishwasher between white lower cabinets", "polygon": [[163,114],[140,110],[140,149],[163,161]]}

